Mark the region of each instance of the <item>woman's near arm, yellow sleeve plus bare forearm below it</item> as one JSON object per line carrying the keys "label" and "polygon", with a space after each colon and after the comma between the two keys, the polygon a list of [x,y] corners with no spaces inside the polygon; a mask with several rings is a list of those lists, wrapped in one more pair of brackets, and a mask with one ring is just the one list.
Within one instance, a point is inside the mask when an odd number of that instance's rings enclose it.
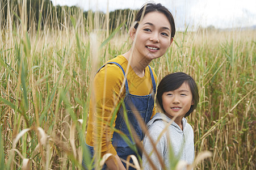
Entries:
{"label": "woman's near arm, yellow sleeve plus bare forearm below it", "polygon": [[[121,80],[123,76],[120,74],[121,71],[119,68],[116,68],[116,65],[106,65],[100,73],[95,76],[94,79],[94,95],[95,95],[95,117],[96,124],[94,128],[97,129],[96,134],[101,135],[93,135],[93,139],[95,143],[98,143],[102,146],[101,152],[106,154],[110,152],[115,155],[116,151],[112,146],[111,139],[113,135],[113,130],[108,126],[110,124],[110,120],[113,117],[113,111],[117,107],[117,104],[120,101],[120,88],[121,88]],[[114,73],[115,72],[115,73]],[[100,80],[102,82],[100,82]],[[116,116],[114,117],[114,122],[116,120]],[[112,125],[115,126],[115,123]],[[125,167],[121,162],[119,156],[116,154],[115,157],[108,159],[106,162],[107,167],[109,169],[120,169],[124,170]]]}

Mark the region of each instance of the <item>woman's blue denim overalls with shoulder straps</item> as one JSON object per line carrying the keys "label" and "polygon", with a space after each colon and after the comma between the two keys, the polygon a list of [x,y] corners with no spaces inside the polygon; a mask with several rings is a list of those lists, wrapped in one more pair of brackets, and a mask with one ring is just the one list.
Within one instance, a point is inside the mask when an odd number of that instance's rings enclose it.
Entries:
{"label": "woman's blue denim overalls with shoulder straps", "polygon": [[[119,63],[116,63],[116,62],[108,62],[108,63],[113,63],[113,64],[119,66],[120,69],[123,71],[123,74],[125,75],[125,71],[124,71],[123,67],[121,67],[121,65],[119,65]],[[106,63],[106,64],[108,64],[108,63]],[[105,65],[103,65],[102,67],[104,67]],[[100,69],[102,67],[100,67]],[[142,141],[142,139],[144,138],[144,132],[141,130],[140,124],[137,121],[137,118],[135,117],[134,114],[140,114],[140,117],[143,118],[145,124],[147,124],[152,116],[153,107],[154,107],[154,94],[156,94],[156,82],[154,80],[154,75],[153,75],[153,72],[152,72],[152,69],[150,68],[150,66],[148,66],[148,67],[150,70],[150,76],[151,76],[151,80],[152,80],[152,84],[153,84],[153,91],[151,94],[145,95],[145,96],[137,96],[137,95],[130,94],[128,82],[127,82],[127,80],[125,80],[125,91],[126,92],[125,92],[125,97],[124,97],[124,105],[125,105],[128,120],[130,123],[129,125],[132,126],[132,128],[136,131],[137,137],[139,138],[140,141]],[[135,109],[133,109],[133,108],[135,108]],[[115,121],[115,128],[117,130],[122,131],[132,142],[132,138],[131,138],[132,135],[129,133],[127,124],[125,123],[123,109],[124,109],[123,106],[121,106],[119,113],[117,113],[117,118]],[[128,155],[135,155],[136,157],[138,157],[136,155],[135,151],[133,151],[127,145],[127,143],[123,140],[123,138],[121,138],[121,136],[116,132],[114,132],[113,137],[112,137],[112,145],[115,147],[117,155],[122,159],[126,160]],[[132,142],[132,145],[135,145],[135,143]],[[86,145],[86,146],[89,148],[91,156],[93,156],[93,154],[94,154],[93,147],[91,147],[89,145]],[[141,153],[139,153],[139,155],[141,156]],[[126,164],[124,162],[122,162],[122,163],[124,164],[124,167],[126,168]],[[83,162],[83,164],[84,164],[84,162]],[[104,165],[103,169],[105,169],[105,168],[106,168],[106,164]],[[133,168],[129,167],[129,169],[133,169]]]}

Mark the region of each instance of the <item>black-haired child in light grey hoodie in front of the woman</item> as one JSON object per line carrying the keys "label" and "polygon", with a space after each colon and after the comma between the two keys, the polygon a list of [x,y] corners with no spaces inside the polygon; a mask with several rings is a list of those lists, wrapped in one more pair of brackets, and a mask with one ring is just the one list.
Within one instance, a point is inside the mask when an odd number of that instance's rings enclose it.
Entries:
{"label": "black-haired child in light grey hoodie in front of the woman", "polygon": [[[153,169],[145,154],[149,155],[155,168],[164,168],[149,138],[152,138],[166,169],[174,168],[170,165],[170,160],[174,159],[192,164],[195,157],[194,131],[185,117],[194,111],[198,101],[198,87],[190,75],[172,73],[161,80],[157,89],[157,102],[163,113],[156,113],[147,124],[150,137],[146,135],[143,141],[146,152],[142,155],[144,169]],[[166,126],[167,130],[163,131]]]}

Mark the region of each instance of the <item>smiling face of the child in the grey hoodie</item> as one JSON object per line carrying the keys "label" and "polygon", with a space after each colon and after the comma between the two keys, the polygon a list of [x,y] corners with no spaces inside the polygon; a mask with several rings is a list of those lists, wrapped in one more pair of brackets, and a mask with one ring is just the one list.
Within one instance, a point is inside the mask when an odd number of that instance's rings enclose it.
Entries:
{"label": "smiling face of the child in the grey hoodie", "polygon": [[162,95],[162,104],[166,116],[171,119],[177,116],[175,122],[181,124],[182,118],[190,110],[191,105],[194,104],[192,99],[190,87],[186,82],[174,91],[164,92]]}

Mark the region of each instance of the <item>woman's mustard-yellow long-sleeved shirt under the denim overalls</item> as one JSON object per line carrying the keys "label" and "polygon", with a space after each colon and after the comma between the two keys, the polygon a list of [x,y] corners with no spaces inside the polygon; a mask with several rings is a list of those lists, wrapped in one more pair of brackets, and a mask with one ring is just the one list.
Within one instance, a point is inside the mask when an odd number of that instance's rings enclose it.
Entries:
{"label": "woman's mustard-yellow long-sleeved shirt under the denim overalls", "polygon": [[[117,56],[108,62],[117,62],[123,67],[124,71],[127,69],[128,61],[124,56]],[[154,70],[152,71],[157,82],[156,73],[154,73]],[[107,64],[94,77],[86,143],[89,146],[99,146],[101,156],[106,153],[116,155],[116,150],[111,142],[114,131],[109,125],[114,109],[117,107],[120,99],[125,97],[125,87],[120,92],[123,80],[123,71],[115,64]],[[145,69],[144,77],[140,78],[130,66],[127,80],[130,94],[144,96],[149,95],[153,91],[148,67]],[[152,117],[154,114],[156,114],[156,108],[153,109]],[[114,117],[113,126],[115,126],[116,117]]]}

